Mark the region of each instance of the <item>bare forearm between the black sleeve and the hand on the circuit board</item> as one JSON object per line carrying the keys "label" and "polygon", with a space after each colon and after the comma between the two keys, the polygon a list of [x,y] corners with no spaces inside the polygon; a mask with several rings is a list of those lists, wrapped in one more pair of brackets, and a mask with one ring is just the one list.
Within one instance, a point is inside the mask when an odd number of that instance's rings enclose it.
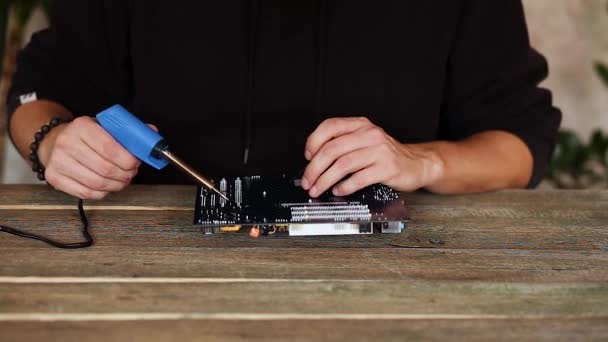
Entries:
{"label": "bare forearm between the black sleeve and the hand on the circuit board", "polygon": [[524,188],[533,158],[525,143],[511,133],[488,131],[459,142],[419,144],[436,177],[425,188],[436,193],[466,193]]}

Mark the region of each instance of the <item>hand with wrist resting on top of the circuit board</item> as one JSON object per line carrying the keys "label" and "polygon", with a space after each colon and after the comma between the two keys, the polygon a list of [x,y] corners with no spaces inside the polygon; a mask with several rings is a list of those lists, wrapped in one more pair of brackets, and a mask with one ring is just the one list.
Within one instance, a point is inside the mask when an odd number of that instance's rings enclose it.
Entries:
{"label": "hand with wrist resting on top of the circuit board", "polygon": [[310,163],[302,188],[311,197],[332,186],[334,195],[346,196],[375,183],[413,191],[431,185],[442,173],[432,150],[402,144],[365,117],[323,121],[308,137],[305,157]]}

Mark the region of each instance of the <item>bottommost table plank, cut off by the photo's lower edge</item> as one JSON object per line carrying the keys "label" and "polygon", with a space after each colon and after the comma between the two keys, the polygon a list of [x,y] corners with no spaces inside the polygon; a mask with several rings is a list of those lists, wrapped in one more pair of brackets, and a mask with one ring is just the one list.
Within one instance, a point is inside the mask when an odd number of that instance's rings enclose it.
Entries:
{"label": "bottommost table plank, cut off by the photo's lower edge", "polygon": [[0,322],[6,341],[605,341],[608,319]]}

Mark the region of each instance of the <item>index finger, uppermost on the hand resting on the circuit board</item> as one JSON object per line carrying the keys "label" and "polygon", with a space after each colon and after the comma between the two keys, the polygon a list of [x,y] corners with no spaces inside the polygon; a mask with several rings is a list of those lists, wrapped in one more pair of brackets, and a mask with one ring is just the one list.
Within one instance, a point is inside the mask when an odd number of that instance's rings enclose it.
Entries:
{"label": "index finger, uppermost on the hand resting on the circuit board", "polygon": [[304,156],[307,160],[311,160],[326,142],[371,124],[369,119],[363,116],[327,119],[308,136]]}

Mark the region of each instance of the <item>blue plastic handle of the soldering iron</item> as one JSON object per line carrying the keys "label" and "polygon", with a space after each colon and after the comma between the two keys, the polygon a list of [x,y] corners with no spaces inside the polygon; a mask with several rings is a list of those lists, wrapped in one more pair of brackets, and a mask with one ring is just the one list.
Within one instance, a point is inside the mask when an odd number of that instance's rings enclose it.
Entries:
{"label": "blue plastic handle of the soldering iron", "polygon": [[156,156],[154,148],[164,138],[121,105],[114,105],[97,114],[97,122],[127,151],[142,162],[160,170],[169,164]]}

